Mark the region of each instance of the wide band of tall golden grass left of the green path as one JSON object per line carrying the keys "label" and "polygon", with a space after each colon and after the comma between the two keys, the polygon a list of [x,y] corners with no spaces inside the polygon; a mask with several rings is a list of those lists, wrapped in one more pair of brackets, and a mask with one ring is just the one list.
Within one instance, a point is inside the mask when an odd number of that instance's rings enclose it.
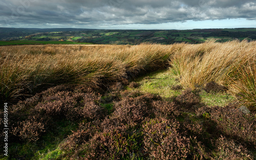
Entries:
{"label": "wide band of tall golden grass left of the green path", "polygon": [[168,65],[179,44],[23,45],[0,48],[1,99],[56,84],[100,85]]}

